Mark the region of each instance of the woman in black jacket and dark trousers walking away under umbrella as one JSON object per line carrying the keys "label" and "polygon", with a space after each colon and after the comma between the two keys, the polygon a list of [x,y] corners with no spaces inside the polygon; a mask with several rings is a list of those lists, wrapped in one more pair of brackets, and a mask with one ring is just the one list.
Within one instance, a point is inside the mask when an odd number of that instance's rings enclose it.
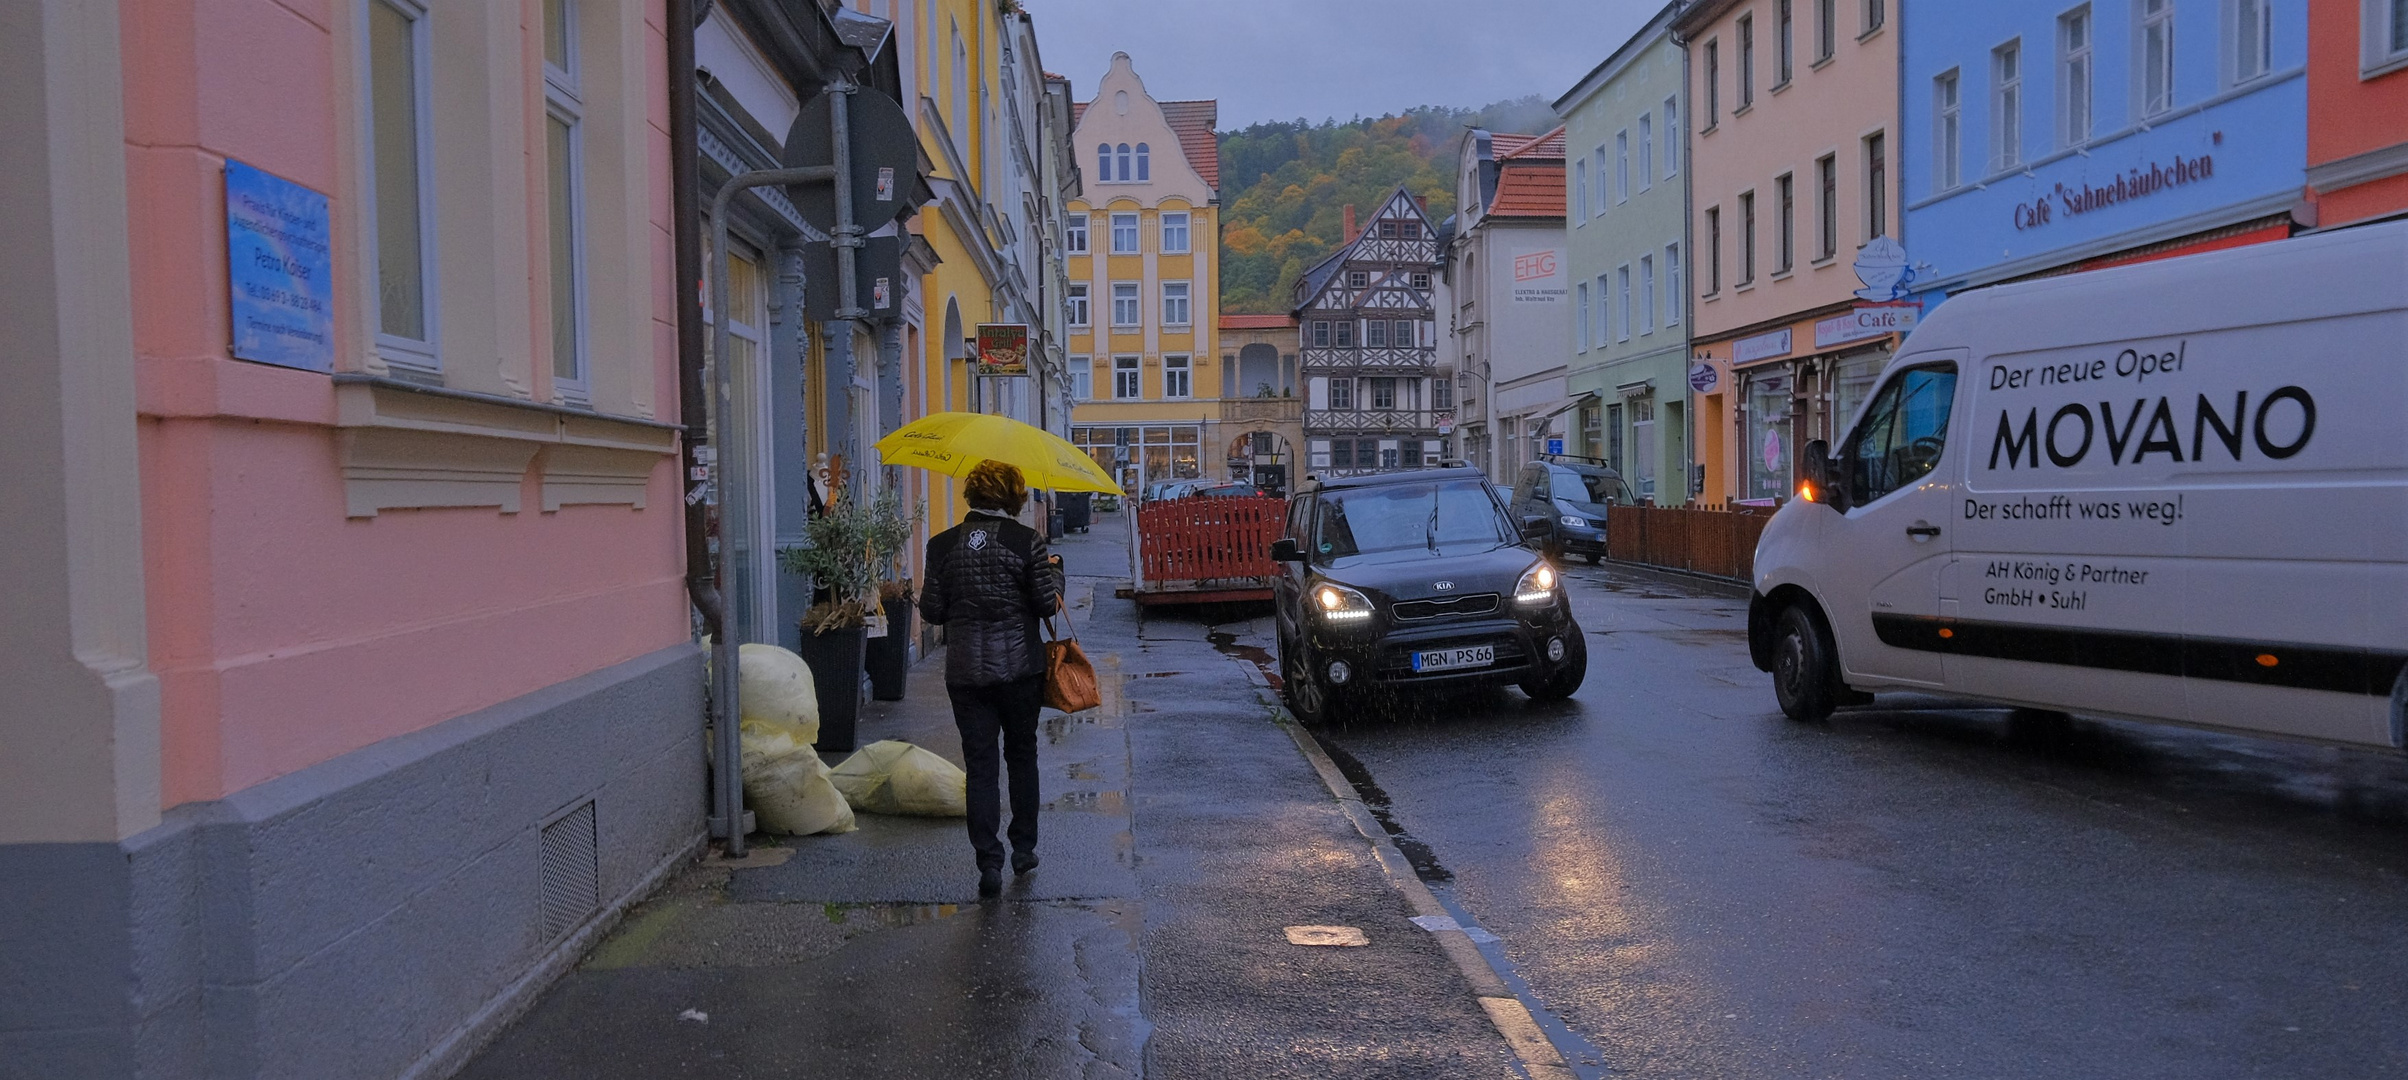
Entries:
{"label": "woman in black jacket and dark trousers walking away under umbrella", "polygon": [[1045,534],[1014,520],[1028,505],[1019,469],[982,462],[970,469],[963,498],[970,515],[927,541],[920,618],[946,628],[944,688],[970,775],[978,895],[992,897],[1004,890],[1004,844],[995,837],[1002,823],[997,736],[1011,772],[1011,873],[1038,866],[1038,710],[1045,705],[1038,621],[1062,606],[1062,568],[1045,553]]}

